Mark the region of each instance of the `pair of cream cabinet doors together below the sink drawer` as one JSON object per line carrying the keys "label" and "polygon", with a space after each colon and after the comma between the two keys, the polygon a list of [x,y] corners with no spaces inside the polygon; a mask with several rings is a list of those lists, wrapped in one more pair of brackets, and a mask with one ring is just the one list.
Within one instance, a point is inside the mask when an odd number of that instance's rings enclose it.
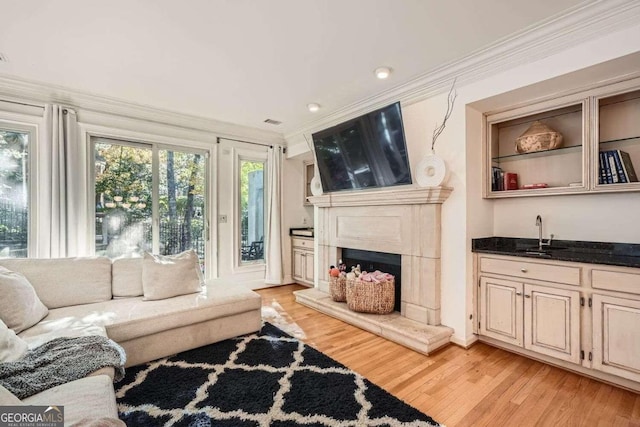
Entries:
{"label": "pair of cream cabinet doors together below the sink drawer", "polygon": [[482,277],[480,333],[537,353],[580,363],[580,293]]}

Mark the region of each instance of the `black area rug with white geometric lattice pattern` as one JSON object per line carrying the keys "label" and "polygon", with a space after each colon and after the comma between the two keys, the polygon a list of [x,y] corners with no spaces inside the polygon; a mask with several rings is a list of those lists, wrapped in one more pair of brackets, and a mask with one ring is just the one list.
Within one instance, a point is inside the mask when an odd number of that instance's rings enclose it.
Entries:
{"label": "black area rug with white geometric lattice pattern", "polygon": [[128,368],[116,387],[128,426],[439,425],[269,323]]}

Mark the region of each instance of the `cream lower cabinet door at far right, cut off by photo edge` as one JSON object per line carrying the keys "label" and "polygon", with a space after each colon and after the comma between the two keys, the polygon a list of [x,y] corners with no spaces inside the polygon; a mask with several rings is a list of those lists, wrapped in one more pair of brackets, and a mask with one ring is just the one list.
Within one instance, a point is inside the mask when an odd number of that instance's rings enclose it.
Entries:
{"label": "cream lower cabinet door at far right, cut off by photo edge", "polygon": [[593,368],[640,381],[640,301],[593,295]]}

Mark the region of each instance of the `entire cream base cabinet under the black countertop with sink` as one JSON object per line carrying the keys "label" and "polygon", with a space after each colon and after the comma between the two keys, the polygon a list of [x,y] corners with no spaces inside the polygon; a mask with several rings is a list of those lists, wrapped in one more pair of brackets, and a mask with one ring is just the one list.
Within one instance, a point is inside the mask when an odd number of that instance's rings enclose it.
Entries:
{"label": "entire cream base cabinet under the black countertop with sink", "polygon": [[481,341],[640,392],[640,269],[476,253]]}

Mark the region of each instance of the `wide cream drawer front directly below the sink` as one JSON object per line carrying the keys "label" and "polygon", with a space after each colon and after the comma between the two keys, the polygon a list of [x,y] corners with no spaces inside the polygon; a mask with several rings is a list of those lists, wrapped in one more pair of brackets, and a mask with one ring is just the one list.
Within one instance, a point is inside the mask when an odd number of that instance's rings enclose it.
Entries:
{"label": "wide cream drawer front directly below the sink", "polygon": [[480,271],[568,285],[580,285],[580,267],[566,265],[482,257],[480,258]]}

